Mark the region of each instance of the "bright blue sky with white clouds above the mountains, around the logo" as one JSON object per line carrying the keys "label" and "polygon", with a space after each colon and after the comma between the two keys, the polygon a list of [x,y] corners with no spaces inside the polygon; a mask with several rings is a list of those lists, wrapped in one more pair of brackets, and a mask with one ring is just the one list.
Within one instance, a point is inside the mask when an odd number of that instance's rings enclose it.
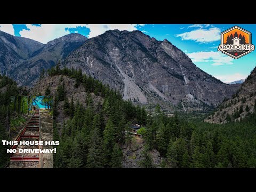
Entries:
{"label": "bright blue sky with white clouds above the mountains, around the logo", "polygon": [[[70,33],[79,33],[88,38],[104,33],[106,30],[141,30],[158,41],[165,38],[185,52],[195,65],[221,79],[232,82],[246,78],[256,66],[256,51],[242,58],[233,59],[218,52],[220,34],[234,26],[242,27],[252,33],[252,44],[256,45],[256,25],[251,24],[0,24],[6,33],[47,43],[54,38]],[[254,36],[255,35],[255,36]]]}

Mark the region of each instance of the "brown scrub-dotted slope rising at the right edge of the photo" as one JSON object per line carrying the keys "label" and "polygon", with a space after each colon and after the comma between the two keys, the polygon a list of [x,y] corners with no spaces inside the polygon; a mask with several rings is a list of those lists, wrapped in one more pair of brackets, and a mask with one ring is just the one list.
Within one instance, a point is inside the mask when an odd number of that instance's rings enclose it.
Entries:
{"label": "brown scrub-dotted slope rising at the right edge of the photo", "polygon": [[245,82],[239,87],[236,94],[230,99],[225,99],[212,115],[204,121],[209,123],[227,123],[240,121],[256,110],[256,67]]}

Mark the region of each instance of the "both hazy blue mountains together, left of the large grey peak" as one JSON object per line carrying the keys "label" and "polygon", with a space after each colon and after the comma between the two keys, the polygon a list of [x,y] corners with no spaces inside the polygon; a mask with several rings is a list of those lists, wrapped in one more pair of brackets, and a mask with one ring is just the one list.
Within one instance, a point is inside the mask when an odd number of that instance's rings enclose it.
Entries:
{"label": "both hazy blue mountains together, left of the large grey peak", "polygon": [[33,85],[43,69],[66,58],[86,39],[80,34],[69,34],[42,44],[0,31],[1,74],[14,78],[18,85]]}

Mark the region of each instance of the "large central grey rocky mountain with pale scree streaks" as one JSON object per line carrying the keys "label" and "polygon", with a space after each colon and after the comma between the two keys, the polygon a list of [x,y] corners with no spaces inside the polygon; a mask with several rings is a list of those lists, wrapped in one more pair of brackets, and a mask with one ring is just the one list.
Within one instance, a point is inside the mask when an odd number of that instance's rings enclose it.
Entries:
{"label": "large central grey rocky mountain with pale scree streaks", "polygon": [[166,109],[171,103],[185,111],[217,106],[238,86],[206,74],[166,39],[157,41],[141,31],[106,31],[72,52],[63,66],[81,68],[120,90],[124,99],[159,102]]}

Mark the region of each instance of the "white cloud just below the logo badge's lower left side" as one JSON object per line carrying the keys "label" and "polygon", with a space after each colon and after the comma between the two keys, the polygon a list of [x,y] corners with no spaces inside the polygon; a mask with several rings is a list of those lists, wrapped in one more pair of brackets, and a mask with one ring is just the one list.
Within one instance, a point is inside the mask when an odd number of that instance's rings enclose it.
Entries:
{"label": "white cloud just below the logo badge's lower left side", "polygon": [[214,52],[214,51],[201,51],[201,52],[194,52],[194,53],[187,53],[188,57],[193,62],[212,62],[213,66],[220,66],[220,65],[233,65],[233,58],[228,57],[227,55],[221,52]]}

